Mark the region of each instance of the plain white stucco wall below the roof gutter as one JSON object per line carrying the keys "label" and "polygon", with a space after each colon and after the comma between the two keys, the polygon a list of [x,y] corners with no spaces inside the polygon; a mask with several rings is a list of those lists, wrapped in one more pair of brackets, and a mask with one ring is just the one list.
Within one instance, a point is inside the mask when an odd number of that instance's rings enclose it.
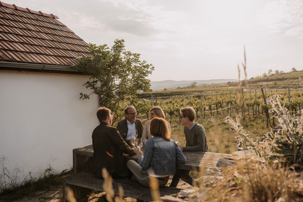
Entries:
{"label": "plain white stucco wall below the roof gutter", "polygon": [[[89,76],[0,70],[0,157],[11,172],[72,167],[72,149],[92,144],[98,96],[80,100]],[[2,168],[0,168],[2,173]]]}

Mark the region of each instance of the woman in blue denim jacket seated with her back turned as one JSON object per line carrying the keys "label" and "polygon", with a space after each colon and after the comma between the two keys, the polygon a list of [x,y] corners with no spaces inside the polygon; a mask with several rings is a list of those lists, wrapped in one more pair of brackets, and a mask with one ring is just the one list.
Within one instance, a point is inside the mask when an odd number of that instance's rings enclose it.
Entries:
{"label": "woman in blue denim jacket seated with her back turned", "polygon": [[138,163],[134,160],[127,162],[128,169],[145,187],[149,187],[149,177],[156,177],[159,186],[165,186],[169,175],[176,172],[176,164],[185,164],[186,158],[181,149],[170,139],[167,124],[162,118],[153,118],[149,126],[150,134],[145,146],[144,155],[138,151]]}

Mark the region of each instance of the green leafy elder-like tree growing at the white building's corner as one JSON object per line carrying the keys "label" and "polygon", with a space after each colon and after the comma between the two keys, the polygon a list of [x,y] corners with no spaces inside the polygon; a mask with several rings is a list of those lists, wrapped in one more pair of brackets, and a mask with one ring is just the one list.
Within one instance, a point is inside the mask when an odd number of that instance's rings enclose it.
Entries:
{"label": "green leafy elder-like tree growing at the white building's corner", "polygon": [[78,56],[79,63],[74,66],[91,75],[84,86],[92,91],[90,94],[80,93],[80,99],[99,95],[100,106],[116,114],[123,109],[125,102],[136,98],[139,91],[150,89],[150,80],[145,77],[154,70],[154,66],[140,60],[140,54],[125,51],[124,42],[116,39],[111,49],[106,44],[89,44],[89,56]]}

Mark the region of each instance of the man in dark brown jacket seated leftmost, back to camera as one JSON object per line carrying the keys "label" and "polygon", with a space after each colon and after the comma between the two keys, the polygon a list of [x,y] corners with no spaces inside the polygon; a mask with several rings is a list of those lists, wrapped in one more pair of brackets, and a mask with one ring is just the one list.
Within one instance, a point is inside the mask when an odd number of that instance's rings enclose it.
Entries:
{"label": "man in dark brown jacket seated leftmost, back to camera", "polygon": [[118,130],[111,126],[110,109],[99,107],[97,117],[100,125],[92,133],[94,176],[102,177],[102,168],[106,168],[112,178],[127,177],[131,173],[123,159],[123,152],[135,155],[136,149],[131,149],[122,139]]}

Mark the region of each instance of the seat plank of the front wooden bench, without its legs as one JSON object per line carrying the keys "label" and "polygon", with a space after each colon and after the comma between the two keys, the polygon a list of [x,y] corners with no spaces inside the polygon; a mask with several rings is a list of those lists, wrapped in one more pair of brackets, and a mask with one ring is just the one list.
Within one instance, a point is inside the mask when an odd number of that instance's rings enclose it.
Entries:
{"label": "seat plank of the front wooden bench, without its legs", "polygon": [[[93,190],[104,191],[102,178],[93,176],[90,172],[80,172],[64,178],[67,185],[74,185]],[[151,192],[148,187],[142,186],[138,181],[129,179],[114,179],[113,190],[115,194],[119,194],[119,185],[123,188],[124,196],[146,201],[152,201]],[[160,196],[177,194],[181,189],[174,187],[159,187]]]}

